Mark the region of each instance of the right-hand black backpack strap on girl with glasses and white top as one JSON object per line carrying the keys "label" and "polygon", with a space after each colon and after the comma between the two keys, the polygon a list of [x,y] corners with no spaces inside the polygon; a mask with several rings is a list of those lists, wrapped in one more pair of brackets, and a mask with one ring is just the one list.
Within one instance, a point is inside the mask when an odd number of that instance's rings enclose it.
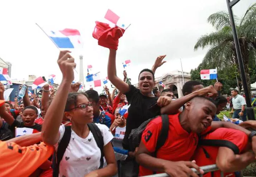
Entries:
{"label": "right-hand black backpack strap on girl with glasses and white top", "polygon": [[100,129],[98,128],[97,125],[95,125],[94,123],[90,123],[90,124],[87,124],[90,131],[92,132],[92,135],[94,136],[94,139],[97,143],[97,146],[98,148],[100,148],[101,150],[101,158],[100,158],[100,167],[99,169],[102,169],[103,167],[103,156],[104,156],[104,153],[103,153],[103,146],[104,146],[104,142],[103,142],[103,137],[101,135],[101,131]]}

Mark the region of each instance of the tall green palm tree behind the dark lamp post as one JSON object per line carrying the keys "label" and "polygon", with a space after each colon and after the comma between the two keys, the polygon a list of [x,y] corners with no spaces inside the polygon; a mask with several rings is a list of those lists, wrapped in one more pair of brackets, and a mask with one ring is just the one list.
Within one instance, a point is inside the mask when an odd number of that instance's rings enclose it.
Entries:
{"label": "tall green palm tree behind the dark lamp post", "polygon": [[[256,64],[256,3],[247,9],[241,20],[236,16],[234,19],[250,91],[249,69]],[[228,72],[235,65],[240,74],[228,12],[213,13],[207,21],[216,32],[201,36],[194,46],[194,50],[210,47],[203,58],[202,66],[217,67]]]}

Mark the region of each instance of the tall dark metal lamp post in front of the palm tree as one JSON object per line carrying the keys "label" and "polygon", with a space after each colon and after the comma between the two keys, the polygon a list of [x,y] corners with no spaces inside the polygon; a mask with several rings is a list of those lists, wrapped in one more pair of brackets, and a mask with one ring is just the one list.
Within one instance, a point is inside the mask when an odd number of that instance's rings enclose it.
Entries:
{"label": "tall dark metal lamp post in front of the palm tree", "polygon": [[236,5],[236,3],[238,3],[239,1],[240,0],[233,0],[230,2],[230,0],[226,0],[227,5],[228,5],[231,28],[232,28],[232,32],[233,32],[233,38],[234,38],[234,42],[235,42],[236,55],[238,57],[239,69],[240,69],[240,73],[241,73],[242,84],[244,87],[248,119],[255,120],[254,110],[253,110],[253,107],[251,106],[251,94],[249,93],[247,82],[246,82],[244,63],[242,61],[242,54],[241,54],[240,45],[239,45],[239,41],[238,41],[238,35],[236,33],[235,21],[234,21],[234,16],[233,16],[233,11],[232,11],[232,7],[234,5]]}

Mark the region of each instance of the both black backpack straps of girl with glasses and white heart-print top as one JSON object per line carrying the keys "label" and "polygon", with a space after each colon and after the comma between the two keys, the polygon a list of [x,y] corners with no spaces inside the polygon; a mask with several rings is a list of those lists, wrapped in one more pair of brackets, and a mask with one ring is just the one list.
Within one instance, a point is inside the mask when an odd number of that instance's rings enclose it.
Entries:
{"label": "both black backpack straps of girl with glasses and white heart-print top", "polygon": [[[92,135],[95,138],[95,141],[98,145],[98,148],[100,148],[100,150],[101,150],[101,158],[100,158],[100,167],[99,167],[99,169],[102,169],[102,167],[103,167],[103,156],[104,156],[104,154],[103,154],[104,143],[103,143],[103,137],[101,135],[101,131],[98,128],[98,126],[95,125],[94,123],[90,123],[90,124],[87,124],[87,125],[89,127],[89,130],[92,132]],[[71,138],[71,126],[65,126],[65,132],[64,132],[64,135],[63,135],[62,139],[59,142],[58,150],[57,150],[57,152],[54,152],[54,154],[53,154],[53,163],[52,163],[53,164],[52,165],[52,167],[53,167],[53,177],[58,177],[59,176],[60,161],[62,160],[63,155],[66,151],[66,148],[68,147],[70,138]]]}

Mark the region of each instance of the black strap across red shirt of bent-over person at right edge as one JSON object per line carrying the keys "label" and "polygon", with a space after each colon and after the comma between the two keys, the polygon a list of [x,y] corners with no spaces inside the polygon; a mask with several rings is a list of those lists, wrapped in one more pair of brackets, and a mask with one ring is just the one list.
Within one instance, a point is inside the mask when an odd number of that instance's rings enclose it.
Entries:
{"label": "black strap across red shirt of bent-over person at right edge", "polygon": [[215,147],[227,147],[233,150],[234,154],[239,154],[239,148],[234,143],[227,141],[227,140],[220,140],[220,139],[201,139],[199,141],[200,145],[206,146],[215,146]]}

